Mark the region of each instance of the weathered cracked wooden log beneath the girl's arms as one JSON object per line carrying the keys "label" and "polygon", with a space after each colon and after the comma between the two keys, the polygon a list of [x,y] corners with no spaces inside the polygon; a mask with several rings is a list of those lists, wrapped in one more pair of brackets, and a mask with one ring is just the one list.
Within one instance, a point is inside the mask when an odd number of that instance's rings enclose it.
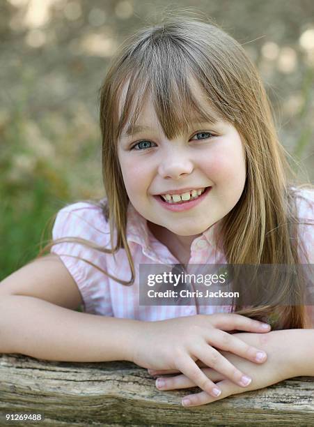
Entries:
{"label": "weathered cracked wooden log beneath the girl's arms", "polygon": [[126,361],[59,362],[0,354],[0,426],[8,425],[5,414],[39,413],[43,421],[24,425],[314,425],[314,377],[183,407],[182,396],[194,391],[199,389],[159,391],[146,369]]}

